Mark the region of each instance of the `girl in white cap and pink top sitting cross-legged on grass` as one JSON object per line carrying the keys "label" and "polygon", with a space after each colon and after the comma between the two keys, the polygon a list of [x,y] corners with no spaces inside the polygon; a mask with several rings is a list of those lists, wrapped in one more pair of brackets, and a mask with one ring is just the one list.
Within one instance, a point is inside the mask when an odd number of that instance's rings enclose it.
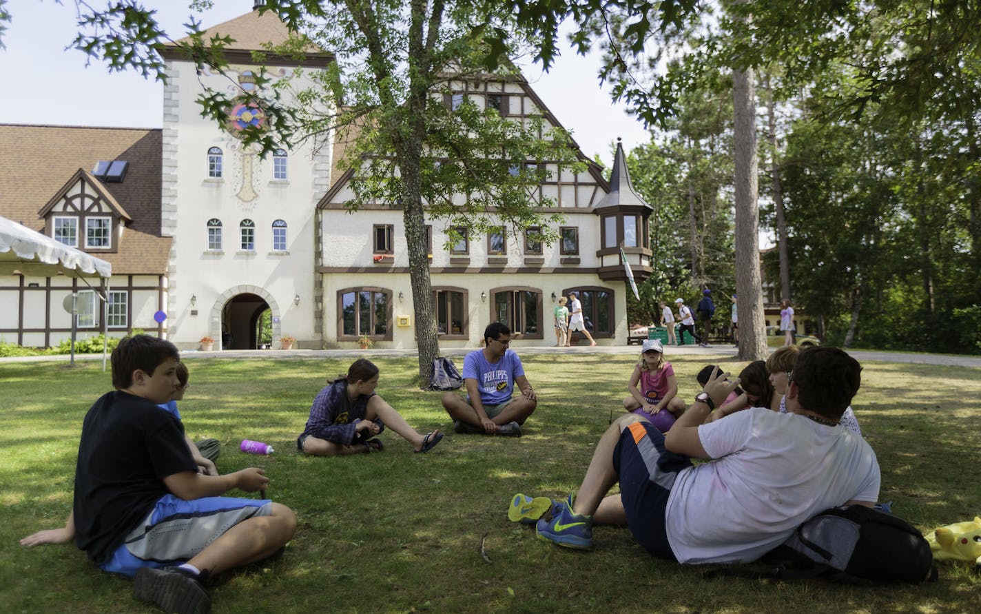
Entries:
{"label": "girl in white cap and pink top sitting cross-legged on grass", "polygon": [[685,402],[678,398],[674,368],[664,360],[660,339],[647,339],[641,346],[641,360],[634,367],[627,386],[630,396],[623,399],[624,408],[667,433],[683,413]]}

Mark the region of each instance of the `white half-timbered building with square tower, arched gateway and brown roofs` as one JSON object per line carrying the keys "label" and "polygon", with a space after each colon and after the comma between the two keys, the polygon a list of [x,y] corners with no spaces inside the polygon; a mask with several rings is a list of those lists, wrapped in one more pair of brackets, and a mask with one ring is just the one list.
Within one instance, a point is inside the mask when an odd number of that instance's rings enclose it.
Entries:
{"label": "white half-timbered building with square tower, arched gateway and brown roofs", "polygon": [[[354,347],[366,334],[376,347],[414,347],[401,210],[370,203],[348,214],[351,173],[336,168],[332,146],[284,145],[266,159],[244,149],[237,130],[263,118],[241,101],[232,104],[227,129],[202,118],[196,99],[204,85],[232,97],[254,86],[260,67],[250,51],[287,35],[272,12],[258,11],[205,36],[215,32],[234,39],[226,54],[233,80],[198,73],[176,49],[165,51],[162,129],[0,125],[0,215],[112,262],[110,335],[142,329],[182,349],[203,337],[216,348],[254,348],[268,310],[274,341],[288,334],[299,347]],[[308,78],[334,61],[308,51],[302,62],[267,54],[265,68],[284,79],[299,68]],[[559,125],[523,80],[451,88],[447,105],[467,97],[514,121],[541,115],[544,129]],[[431,225],[441,344],[475,346],[491,321],[505,322],[516,345],[553,344],[552,308],[571,290],[597,342],[626,343],[630,290],[620,247],[645,279],[651,210],[630,184],[622,149],[609,181],[582,159],[587,168],[577,174],[544,163],[550,179],[537,196],[553,204],[542,212],[566,216],[556,244],[515,241],[509,230],[465,236],[445,249],[446,229]],[[73,289],[86,288],[0,277],[0,339],[57,344],[71,330],[61,302]],[[97,333],[106,317],[92,311],[78,322],[82,335]]]}

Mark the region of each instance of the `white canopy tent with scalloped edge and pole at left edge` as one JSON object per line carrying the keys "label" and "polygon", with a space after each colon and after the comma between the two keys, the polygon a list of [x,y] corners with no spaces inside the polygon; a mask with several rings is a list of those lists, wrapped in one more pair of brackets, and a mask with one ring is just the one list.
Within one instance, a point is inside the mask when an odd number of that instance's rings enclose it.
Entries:
{"label": "white canopy tent with scalloped edge and pole at left edge", "polygon": [[[109,279],[113,266],[105,260],[62,244],[50,236],[0,217],[0,275],[77,278],[102,299],[102,335],[106,337]],[[89,283],[94,279],[98,287]],[[106,368],[106,344],[102,346],[102,369]]]}

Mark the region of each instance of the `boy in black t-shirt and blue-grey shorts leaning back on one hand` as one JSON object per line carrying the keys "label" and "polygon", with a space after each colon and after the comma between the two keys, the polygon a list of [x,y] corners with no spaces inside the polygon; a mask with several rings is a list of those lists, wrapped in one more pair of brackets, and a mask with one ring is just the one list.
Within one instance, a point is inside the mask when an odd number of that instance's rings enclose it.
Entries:
{"label": "boy in black t-shirt and blue-grey shorts leaning back on one hand", "polygon": [[146,334],[112,355],[116,390],[85,415],[78,442],[75,503],[63,529],[23,545],[78,548],[105,571],[135,576],[137,598],[168,612],[207,612],[209,576],[262,560],[293,536],[292,510],[263,499],[218,496],[269,483],[250,467],[226,476],[197,472],[181,421],[161,411],[179,385],[177,347]]}

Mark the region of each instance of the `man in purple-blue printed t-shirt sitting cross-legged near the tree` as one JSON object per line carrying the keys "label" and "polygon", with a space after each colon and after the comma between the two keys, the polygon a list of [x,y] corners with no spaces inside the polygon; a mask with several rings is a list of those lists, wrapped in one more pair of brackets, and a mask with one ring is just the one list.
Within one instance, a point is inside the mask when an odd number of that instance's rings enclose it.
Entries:
{"label": "man in purple-blue printed t-shirt sitting cross-legged near the tree", "polygon": [[[467,398],[442,395],[442,407],[453,419],[456,433],[521,436],[521,425],[538,406],[538,396],[525,377],[521,359],[508,348],[511,330],[499,322],[484,331],[484,349],[463,359]],[[512,398],[514,385],[521,394]]]}

